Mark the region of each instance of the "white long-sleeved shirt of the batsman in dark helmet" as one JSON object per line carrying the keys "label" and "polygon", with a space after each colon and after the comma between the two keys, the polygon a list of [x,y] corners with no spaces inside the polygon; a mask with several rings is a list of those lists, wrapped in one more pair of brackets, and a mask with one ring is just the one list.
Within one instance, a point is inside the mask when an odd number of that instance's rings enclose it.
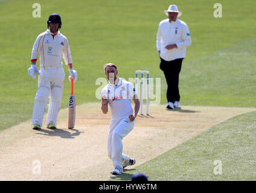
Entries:
{"label": "white long-sleeved shirt of the batsman in dark helmet", "polygon": [[72,64],[68,39],[60,32],[53,37],[49,30],[39,34],[34,42],[31,61],[36,61],[40,52],[41,68],[57,68],[62,66],[62,55],[66,65]]}

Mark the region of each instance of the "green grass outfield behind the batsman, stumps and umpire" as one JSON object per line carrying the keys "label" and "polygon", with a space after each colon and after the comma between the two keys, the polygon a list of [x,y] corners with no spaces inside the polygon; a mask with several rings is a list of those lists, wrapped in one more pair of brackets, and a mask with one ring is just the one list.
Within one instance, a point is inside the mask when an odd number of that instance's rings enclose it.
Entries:
{"label": "green grass outfield behind the batsman, stumps and umpire", "polygon": [[[211,0],[39,1],[42,17],[34,18],[34,1],[0,0],[0,130],[31,119],[37,90],[37,80],[27,74],[31,49],[54,12],[62,17],[61,32],[68,37],[78,72],[77,104],[97,101],[95,81],[104,77],[102,66],[109,62],[118,65],[120,77],[135,77],[136,69],[147,69],[150,77],[161,77],[161,103],[167,102],[167,86],[156,52],[156,30],[167,18],[164,10],[176,4],[183,12],[179,19],[188,24],[193,42],[182,64],[181,104],[256,107],[256,1],[217,2],[223,9],[223,17],[218,19],[213,17],[216,1]],[[65,72],[62,108],[68,106],[70,90],[66,68]],[[252,130],[248,132],[250,135]],[[157,176],[152,179],[160,180]]]}

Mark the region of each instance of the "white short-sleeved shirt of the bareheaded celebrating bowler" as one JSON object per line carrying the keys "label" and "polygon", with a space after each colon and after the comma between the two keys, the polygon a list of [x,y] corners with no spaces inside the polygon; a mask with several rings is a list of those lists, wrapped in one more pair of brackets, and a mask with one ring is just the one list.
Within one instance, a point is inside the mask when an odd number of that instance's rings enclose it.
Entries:
{"label": "white short-sleeved shirt of the bareheaded celebrating bowler", "polygon": [[101,90],[101,96],[107,96],[111,110],[111,121],[120,121],[133,115],[131,99],[136,94],[133,84],[119,78],[118,84],[107,84]]}

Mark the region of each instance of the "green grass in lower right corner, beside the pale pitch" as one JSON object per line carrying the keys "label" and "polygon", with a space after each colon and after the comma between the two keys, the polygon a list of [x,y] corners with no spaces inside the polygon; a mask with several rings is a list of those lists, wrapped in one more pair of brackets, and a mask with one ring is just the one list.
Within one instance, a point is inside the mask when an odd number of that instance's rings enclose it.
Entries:
{"label": "green grass in lower right corner, beside the pale pitch", "polygon": [[150,181],[255,181],[255,117],[256,111],[235,116],[110,180],[130,180],[133,174],[142,172]]}

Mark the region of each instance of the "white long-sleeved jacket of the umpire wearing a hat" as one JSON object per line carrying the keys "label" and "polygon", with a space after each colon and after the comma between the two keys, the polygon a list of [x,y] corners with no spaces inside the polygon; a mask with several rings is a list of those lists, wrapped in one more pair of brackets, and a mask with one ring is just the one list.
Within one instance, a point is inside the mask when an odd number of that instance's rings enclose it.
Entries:
{"label": "white long-sleeved jacket of the umpire wearing a hat", "polygon": [[[175,44],[178,48],[166,49],[165,46]],[[164,19],[160,22],[156,34],[156,49],[160,57],[166,61],[185,58],[186,48],[191,45],[190,31],[185,22],[176,19],[175,22]]]}

